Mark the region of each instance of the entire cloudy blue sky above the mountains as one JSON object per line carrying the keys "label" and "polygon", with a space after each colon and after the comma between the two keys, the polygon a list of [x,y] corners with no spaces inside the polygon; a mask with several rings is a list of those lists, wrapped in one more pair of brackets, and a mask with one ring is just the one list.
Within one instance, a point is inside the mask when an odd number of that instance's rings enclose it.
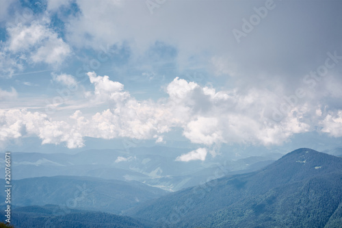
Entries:
{"label": "entire cloudy blue sky above the mountains", "polygon": [[341,10],[1,0],[0,149],[184,142],[175,160],[189,162],[229,147],[342,147]]}

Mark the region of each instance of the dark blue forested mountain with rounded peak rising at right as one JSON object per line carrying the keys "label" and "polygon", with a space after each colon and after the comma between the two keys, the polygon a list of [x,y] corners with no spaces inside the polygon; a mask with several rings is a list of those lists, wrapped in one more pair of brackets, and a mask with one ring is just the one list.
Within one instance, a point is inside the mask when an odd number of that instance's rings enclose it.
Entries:
{"label": "dark blue forested mountain with rounded peak rising at right", "polygon": [[174,192],[125,214],[157,227],[342,227],[342,158],[298,149],[257,172]]}

